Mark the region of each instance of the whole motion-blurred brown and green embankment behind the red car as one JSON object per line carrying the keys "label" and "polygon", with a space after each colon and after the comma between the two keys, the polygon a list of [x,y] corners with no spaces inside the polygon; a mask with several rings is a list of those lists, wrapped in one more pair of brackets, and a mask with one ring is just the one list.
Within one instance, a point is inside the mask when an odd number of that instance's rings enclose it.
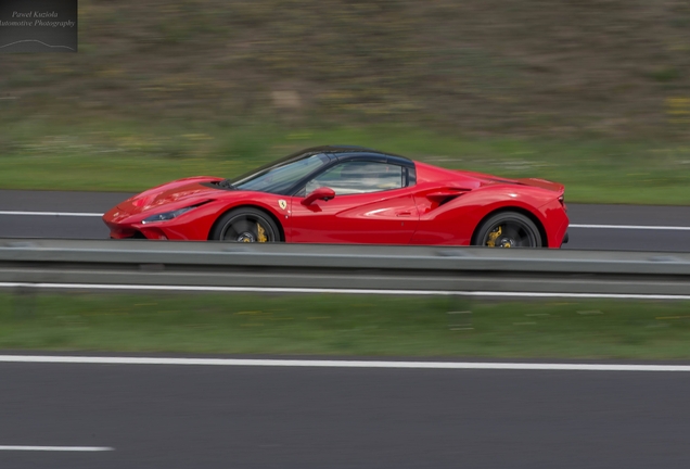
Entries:
{"label": "whole motion-blurred brown and green embankment behind the red car", "polygon": [[142,190],[312,144],[690,200],[690,3],[79,2],[79,53],[3,54],[0,187]]}

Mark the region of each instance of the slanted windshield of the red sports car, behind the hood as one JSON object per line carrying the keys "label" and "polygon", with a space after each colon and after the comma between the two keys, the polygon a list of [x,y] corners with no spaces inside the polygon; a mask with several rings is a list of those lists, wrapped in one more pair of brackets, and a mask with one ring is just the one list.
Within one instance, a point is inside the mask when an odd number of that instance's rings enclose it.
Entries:
{"label": "slanted windshield of the red sports car, behind the hood", "polygon": [[329,163],[324,154],[315,154],[297,161],[288,161],[233,181],[238,190],[251,190],[269,193],[283,193],[315,169]]}

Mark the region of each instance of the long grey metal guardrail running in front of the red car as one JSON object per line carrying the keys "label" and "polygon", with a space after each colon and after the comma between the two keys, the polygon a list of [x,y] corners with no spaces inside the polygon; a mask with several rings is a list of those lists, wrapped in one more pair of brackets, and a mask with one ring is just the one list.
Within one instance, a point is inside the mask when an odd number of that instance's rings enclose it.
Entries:
{"label": "long grey metal guardrail running in front of the red car", "polygon": [[690,295],[690,254],[4,239],[0,282]]}

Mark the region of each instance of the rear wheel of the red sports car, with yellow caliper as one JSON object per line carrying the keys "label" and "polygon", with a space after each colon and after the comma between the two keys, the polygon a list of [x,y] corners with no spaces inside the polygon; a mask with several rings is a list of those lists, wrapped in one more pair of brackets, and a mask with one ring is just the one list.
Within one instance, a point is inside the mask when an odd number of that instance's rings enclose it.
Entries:
{"label": "rear wheel of the red sports car, with yellow caliper", "polygon": [[472,245],[487,248],[542,248],[539,228],[516,212],[501,212],[489,216],[480,225]]}

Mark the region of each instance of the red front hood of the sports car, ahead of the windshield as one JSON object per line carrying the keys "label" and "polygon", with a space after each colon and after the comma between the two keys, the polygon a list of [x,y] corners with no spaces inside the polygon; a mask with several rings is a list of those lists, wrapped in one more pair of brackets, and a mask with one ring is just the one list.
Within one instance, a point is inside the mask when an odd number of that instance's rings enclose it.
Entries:
{"label": "red front hood of the sports car, ahead of the windshield", "polygon": [[212,176],[175,180],[127,199],[117,207],[131,215],[156,211],[166,205],[174,206],[174,208],[193,205],[217,198],[219,189],[209,187],[207,183],[219,180],[222,178]]}

